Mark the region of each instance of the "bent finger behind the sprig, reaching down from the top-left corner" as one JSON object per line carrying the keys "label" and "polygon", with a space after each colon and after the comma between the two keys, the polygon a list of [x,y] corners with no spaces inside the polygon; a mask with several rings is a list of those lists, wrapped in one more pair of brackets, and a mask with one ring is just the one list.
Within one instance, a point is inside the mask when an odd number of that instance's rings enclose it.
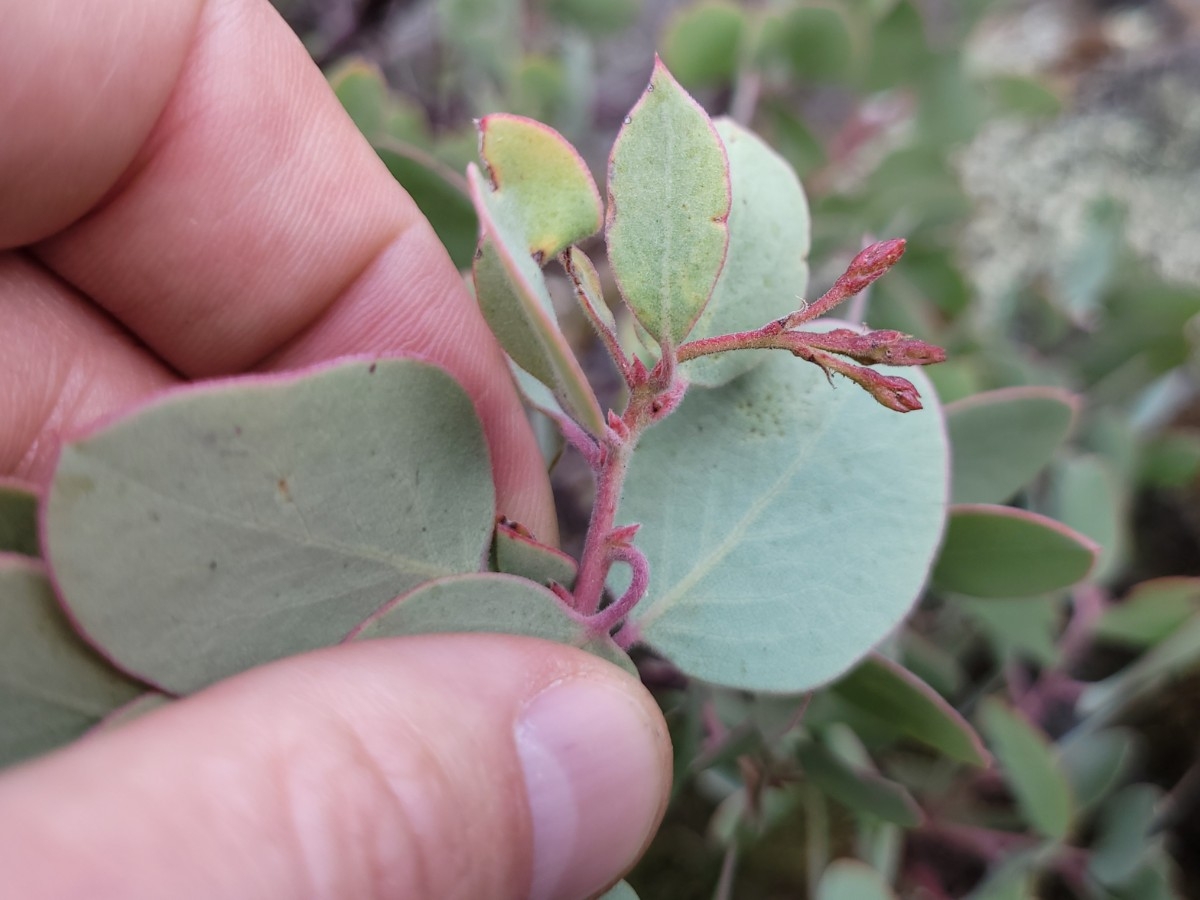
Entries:
{"label": "bent finger behind the sprig, reaching down from the top-left corner", "polygon": [[187,377],[352,353],[438,362],[484,421],[498,511],[554,540],[482,317],[266,0],[11,6],[0,247],[38,240],[42,263]]}

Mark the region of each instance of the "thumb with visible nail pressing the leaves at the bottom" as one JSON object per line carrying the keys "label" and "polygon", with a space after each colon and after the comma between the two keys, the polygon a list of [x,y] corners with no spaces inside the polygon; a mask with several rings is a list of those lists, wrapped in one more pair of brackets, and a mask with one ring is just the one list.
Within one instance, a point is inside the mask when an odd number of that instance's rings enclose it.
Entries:
{"label": "thumb with visible nail pressing the leaves at the bottom", "polygon": [[596,894],[671,775],[632,678],[580,650],[437,635],[223,682],[0,779],[20,898]]}

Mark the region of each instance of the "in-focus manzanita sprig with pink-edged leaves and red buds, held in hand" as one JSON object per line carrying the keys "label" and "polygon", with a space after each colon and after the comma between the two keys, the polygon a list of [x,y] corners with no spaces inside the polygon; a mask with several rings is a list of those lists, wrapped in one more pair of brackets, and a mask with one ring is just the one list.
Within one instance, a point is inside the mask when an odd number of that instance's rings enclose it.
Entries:
{"label": "in-focus manzanita sprig with pink-edged leaves and red buds, held in hand", "polygon": [[[595,475],[580,559],[496,509],[472,403],[426,362],[167,392],[64,444],[36,529],[31,492],[0,491],[0,761],[346,640],[533,635],[630,670],[644,648],[713,685],[803,694],[907,613],[942,540],[949,449],[928,382],[896,367],[943,354],[823,318],[904,241],[868,246],[803,300],[796,175],[744,127],[710,121],[661,62],[613,145],[606,202],[553,130],[502,114],[479,133],[474,290],[530,407]],[[581,246],[601,227],[634,329]],[[620,376],[620,412],[558,325],[548,265]],[[982,503],[959,509],[952,540],[1000,520],[1042,527],[985,494],[964,496]],[[952,589],[962,578],[944,554],[938,572]],[[841,690],[900,698],[919,740],[983,760],[958,714],[883,656]],[[802,758],[842,764],[816,743]]]}

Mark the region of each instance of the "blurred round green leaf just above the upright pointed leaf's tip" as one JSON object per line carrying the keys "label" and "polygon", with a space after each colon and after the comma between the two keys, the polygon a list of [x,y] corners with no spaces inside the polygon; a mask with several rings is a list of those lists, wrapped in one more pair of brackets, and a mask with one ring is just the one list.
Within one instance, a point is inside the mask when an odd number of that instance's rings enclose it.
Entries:
{"label": "blurred round green leaf just above the upright pointed leaf's tip", "polygon": [[738,72],[746,13],[727,0],[677,10],[662,35],[662,61],[689,88],[727,84]]}

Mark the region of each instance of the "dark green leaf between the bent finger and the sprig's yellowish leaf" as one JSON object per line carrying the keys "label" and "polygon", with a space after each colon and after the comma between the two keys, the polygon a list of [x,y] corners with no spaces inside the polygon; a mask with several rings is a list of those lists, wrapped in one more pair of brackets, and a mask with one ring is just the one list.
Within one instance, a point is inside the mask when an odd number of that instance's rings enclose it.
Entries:
{"label": "dark green leaf between the bent finger and the sprig's yellowish leaf", "polygon": [[430,220],[458,269],[470,265],[479,222],[462,175],[415,146],[385,138],[376,152]]}

